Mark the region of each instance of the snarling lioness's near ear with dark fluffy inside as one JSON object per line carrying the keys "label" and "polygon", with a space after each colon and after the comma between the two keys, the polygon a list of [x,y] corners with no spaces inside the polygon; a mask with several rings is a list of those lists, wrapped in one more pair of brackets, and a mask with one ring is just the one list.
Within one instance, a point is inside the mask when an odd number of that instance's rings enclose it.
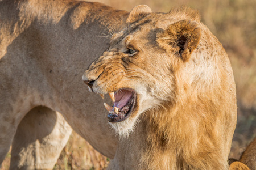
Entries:
{"label": "snarling lioness's near ear with dark fluffy inside", "polygon": [[174,53],[183,61],[188,61],[199,44],[200,37],[201,28],[197,22],[181,20],[169,25],[166,31],[158,33],[156,42],[167,53]]}

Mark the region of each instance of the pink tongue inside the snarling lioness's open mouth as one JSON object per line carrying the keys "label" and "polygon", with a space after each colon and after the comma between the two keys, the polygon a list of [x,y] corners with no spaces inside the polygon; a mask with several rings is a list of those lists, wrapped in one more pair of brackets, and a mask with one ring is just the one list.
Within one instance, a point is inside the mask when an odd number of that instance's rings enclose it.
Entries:
{"label": "pink tongue inside the snarling lioness's open mouth", "polygon": [[133,97],[133,92],[129,90],[118,91],[115,94],[115,102],[114,102],[115,107],[117,108],[124,107],[129,102],[131,97]]}

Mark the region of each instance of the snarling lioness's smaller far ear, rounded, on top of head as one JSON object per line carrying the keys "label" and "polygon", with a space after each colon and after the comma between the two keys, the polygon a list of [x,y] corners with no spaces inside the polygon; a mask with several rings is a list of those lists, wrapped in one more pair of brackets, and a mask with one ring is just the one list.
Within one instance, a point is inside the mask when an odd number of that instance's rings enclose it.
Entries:
{"label": "snarling lioness's smaller far ear, rounded, on top of head", "polygon": [[138,5],[138,6],[135,6],[128,18],[126,19],[126,22],[127,23],[133,23],[139,19],[141,19],[143,16],[146,16],[148,14],[150,14],[152,11],[150,9],[150,7],[148,7],[147,5]]}

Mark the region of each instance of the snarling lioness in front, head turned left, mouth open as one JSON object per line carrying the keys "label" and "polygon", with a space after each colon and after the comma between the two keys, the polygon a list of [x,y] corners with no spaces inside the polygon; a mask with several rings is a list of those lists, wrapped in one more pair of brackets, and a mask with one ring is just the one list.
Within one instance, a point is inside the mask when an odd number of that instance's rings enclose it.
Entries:
{"label": "snarling lioness in front, head turned left, mouth open", "polygon": [[228,169],[236,87],[220,42],[186,7],[137,6],[126,22],[82,77],[114,103],[104,104],[120,136],[109,169]]}

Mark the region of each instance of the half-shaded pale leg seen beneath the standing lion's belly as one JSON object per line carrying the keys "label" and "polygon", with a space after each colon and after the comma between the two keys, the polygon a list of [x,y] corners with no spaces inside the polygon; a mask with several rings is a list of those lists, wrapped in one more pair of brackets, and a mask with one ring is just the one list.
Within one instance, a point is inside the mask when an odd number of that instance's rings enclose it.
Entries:
{"label": "half-shaded pale leg seen beneath the standing lion's belly", "polygon": [[47,107],[32,109],[13,139],[10,169],[52,169],[71,133],[60,113]]}

